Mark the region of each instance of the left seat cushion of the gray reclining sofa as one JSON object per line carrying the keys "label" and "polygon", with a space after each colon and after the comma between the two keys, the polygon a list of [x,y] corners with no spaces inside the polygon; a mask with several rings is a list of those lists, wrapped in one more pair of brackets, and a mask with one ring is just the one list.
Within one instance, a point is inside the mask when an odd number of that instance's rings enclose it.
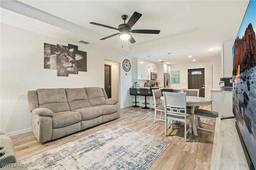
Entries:
{"label": "left seat cushion of the gray reclining sofa", "polygon": [[82,120],[82,116],[79,112],[74,111],[63,111],[54,113],[52,117],[52,128],[65,127],[73,125]]}

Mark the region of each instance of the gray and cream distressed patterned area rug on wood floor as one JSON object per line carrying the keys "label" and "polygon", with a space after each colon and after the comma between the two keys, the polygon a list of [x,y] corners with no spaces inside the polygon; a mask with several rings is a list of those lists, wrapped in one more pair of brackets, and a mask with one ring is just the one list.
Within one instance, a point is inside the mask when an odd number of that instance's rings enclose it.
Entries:
{"label": "gray and cream distressed patterned area rug on wood floor", "polygon": [[143,170],[171,141],[113,125],[91,135],[36,154],[20,163],[28,169]]}

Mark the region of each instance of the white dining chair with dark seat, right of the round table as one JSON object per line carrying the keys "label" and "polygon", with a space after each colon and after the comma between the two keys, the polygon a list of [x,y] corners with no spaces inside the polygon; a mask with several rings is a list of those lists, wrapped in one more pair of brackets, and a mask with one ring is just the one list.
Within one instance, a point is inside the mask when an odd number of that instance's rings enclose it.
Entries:
{"label": "white dining chair with dark seat, right of the round table", "polygon": [[209,123],[204,123],[204,122],[200,121],[200,118],[207,118],[207,119],[216,120],[216,117],[218,117],[219,115],[221,117],[225,94],[226,94],[226,92],[222,91],[222,95],[221,95],[221,98],[220,98],[220,107],[219,107],[218,112],[217,111],[206,110],[206,109],[198,109],[195,112],[195,115],[196,115],[196,120],[195,121],[196,121],[196,128],[197,129],[201,129],[201,130],[204,130],[204,131],[210,131],[210,132],[214,133],[213,130],[207,129],[207,128],[204,128],[204,127],[200,127],[200,125],[201,126],[202,125],[208,125],[208,126],[212,126],[212,127],[215,127],[215,125],[212,125],[212,124],[209,124]]}

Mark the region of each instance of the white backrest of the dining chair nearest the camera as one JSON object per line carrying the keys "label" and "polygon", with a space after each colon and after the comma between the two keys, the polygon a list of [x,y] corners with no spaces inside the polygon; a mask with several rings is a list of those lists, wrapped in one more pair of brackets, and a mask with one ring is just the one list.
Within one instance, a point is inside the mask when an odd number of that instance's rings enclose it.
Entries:
{"label": "white backrest of the dining chair nearest the camera", "polygon": [[186,93],[164,92],[166,116],[180,117],[186,120]]}

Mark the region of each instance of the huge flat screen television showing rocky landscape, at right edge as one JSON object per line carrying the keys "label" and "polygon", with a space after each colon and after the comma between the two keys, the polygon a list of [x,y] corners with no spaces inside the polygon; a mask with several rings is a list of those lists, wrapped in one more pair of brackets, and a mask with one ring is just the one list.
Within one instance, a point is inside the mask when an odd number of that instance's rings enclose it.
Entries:
{"label": "huge flat screen television showing rocky landscape, at right edge", "polygon": [[250,169],[256,164],[256,0],[250,0],[232,48],[233,113]]}

